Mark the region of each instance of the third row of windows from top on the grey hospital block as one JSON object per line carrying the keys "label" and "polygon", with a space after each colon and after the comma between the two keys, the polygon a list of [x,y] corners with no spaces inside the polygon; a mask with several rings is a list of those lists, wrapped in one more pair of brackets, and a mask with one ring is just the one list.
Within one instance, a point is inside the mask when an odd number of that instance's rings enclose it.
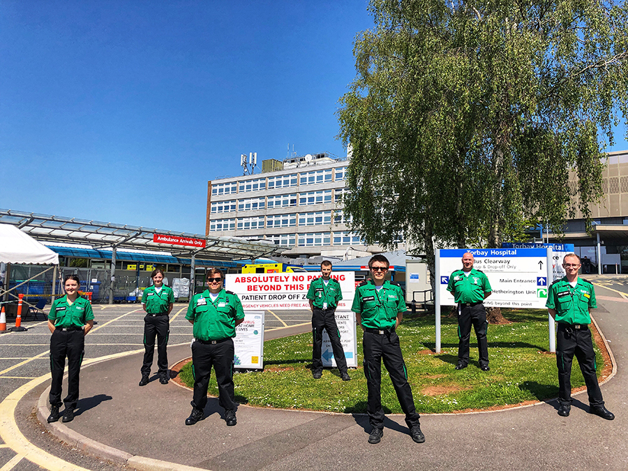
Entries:
{"label": "third row of windows from top on the grey hospital block", "polygon": [[[299,214],[299,226],[306,225],[330,225],[331,211],[316,211],[313,213]],[[345,218],[343,211],[334,211],[334,224],[349,223],[350,219]],[[297,214],[275,214],[266,216],[266,227],[295,227],[297,225]],[[214,229],[214,227],[216,227]],[[215,219],[209,223],[209,230],[238,230],[245,229],[262,229],[264,227],[264,216],[256,216],[253,218],[235,218],[232,219]]]}

